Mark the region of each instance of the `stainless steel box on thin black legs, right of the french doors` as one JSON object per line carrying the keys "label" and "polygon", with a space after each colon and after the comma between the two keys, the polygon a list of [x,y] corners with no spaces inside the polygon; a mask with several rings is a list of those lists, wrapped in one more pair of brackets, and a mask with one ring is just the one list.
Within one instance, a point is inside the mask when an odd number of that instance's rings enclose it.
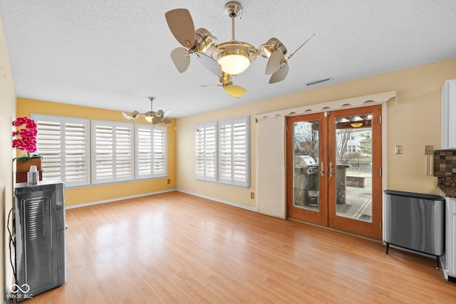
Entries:
{"label": "stainless steel box on thin black legs, right of the french doors", "polygon": [[389,245],[437,258],[445,251],[445,198],[437,195],[385,190],[383,240]]}

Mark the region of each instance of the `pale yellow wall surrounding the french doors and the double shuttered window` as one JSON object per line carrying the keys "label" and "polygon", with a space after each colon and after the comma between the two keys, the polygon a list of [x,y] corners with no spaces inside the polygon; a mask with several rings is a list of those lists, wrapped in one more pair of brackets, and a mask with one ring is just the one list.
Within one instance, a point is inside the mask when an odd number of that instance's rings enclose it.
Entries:
{"label": "pale yellow wall surrounding the french doors and the double shuttered window", "polygon": [[[383,135],[387,137],[388,145],[385,155],[388,167],[384,168],[388,173],[388,184],[383,187],[440,194],[436,178],[425,174],[424,148],[425,145],[433,145],[435,150],[440,149],[440,89],[445,80],[454,78],[456,58],[177,119],[177,189],[254,207],[254,199],[250,199],[257,179],[257,125],[254,115],[395,90],[397,98],[388,102],[388,132]],[[195,124],[244,115],[251,117],[252,186],[245,189],[195,179]],[[394,154],[395,145],[403,146],[403,154]]]}

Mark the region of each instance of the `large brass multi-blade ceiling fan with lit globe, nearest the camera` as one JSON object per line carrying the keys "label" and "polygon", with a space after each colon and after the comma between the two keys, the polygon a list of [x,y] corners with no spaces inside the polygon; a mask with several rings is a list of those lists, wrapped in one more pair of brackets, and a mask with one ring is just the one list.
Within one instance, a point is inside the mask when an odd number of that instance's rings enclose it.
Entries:
{"label": "large brass multi-blade ceiling fan with lit globe, nearest the camera", "polygon": [[[218,43],[217,38],[205,28],[198,28],[195,31],[192,16],[187,9],[167,11],[165,18],[170,31],[183,46],[183,48],[175,48],[171,52],[172,62],[177,70],[180,73],[185,72],[190,65],[190,54],[193,54],[205,68],[219,77],[221,85],[217,86],[222,86],[227,93],[237,98],[242,96],[246,89],[238,85],[230,88],[233,86],[231,78],[247,70],[250,63],[257,59],[257,56],[268,59],[265,73],[271,75],[269,83],[278,83],[288,75],[289,59],[315,36],[315,34],[312,35],[294,53],[285,58],[286,47],[277,38],[270,38],[259,48],[255,48],[250,43],[236,40],[234,37],[234,19],[242,16],[242,5],[239,2],[229,1],[225,4],[225,14],[232,19],[232,40],[223,43]],[[236,92],[235,94],[230,93],[232,89]]]}

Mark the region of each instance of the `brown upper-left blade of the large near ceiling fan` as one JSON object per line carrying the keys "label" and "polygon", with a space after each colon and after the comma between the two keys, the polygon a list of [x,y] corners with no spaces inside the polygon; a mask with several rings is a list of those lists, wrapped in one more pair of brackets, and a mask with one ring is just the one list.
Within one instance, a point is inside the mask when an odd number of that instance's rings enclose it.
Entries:
{"label": "brown upper-left blade of the large near ceiling fan", "polygon": [[173,9],[165,13],[166,22],[172,35],[185,48],[195,45],[195,25],[187,9]]}

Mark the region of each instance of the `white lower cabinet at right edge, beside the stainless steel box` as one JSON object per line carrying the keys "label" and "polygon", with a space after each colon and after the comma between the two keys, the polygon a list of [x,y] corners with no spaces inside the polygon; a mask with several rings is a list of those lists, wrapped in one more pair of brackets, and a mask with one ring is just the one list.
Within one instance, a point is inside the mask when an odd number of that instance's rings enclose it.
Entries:
{"label": "white lower cabinet at right edge, beside the stainless steel box", "polygon": [[445,278],[456,283],[456,198],[445,197],[446,233],[445,233]]}

